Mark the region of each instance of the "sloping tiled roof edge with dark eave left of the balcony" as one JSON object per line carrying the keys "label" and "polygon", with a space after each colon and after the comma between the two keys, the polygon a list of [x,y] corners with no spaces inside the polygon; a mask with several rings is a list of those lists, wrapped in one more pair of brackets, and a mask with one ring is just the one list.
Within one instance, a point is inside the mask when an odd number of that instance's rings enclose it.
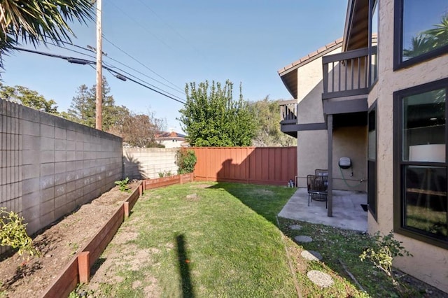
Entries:
{"label": "sloping tiled roof edge with dark eave left of the balcony", "polygon": [[293,96],[293,98],[297,97],[296,70],[300,66],[308,64],[309,62],[314,61],[319,57],[322,57],[323,55],[327,54],[328,52],[331,52],[332,50],[335,50],[336,48],[339,48],[340,46],[342,46],[342,38],[332,41],[331,43],[324,45],[322,48],[319,48],[318,50],[311,52],[308,55],[298,59],[296,62],[293,62],[283,67],[282,69],[279,69],[278,71],[279,76],[283,81],[283,84],[286,86],[286,89],[288,89],[289,93]]}

